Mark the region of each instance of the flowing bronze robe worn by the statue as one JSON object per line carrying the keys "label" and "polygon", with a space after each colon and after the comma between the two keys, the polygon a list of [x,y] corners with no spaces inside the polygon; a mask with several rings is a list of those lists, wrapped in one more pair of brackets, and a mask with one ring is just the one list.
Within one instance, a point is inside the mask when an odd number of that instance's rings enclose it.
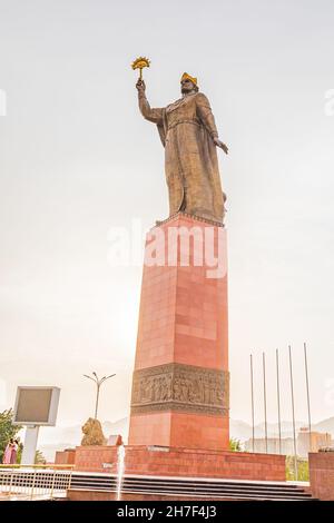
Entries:
{"label": "flowing bronze robe worn by the statue", "polygon": [[145,93],[139,93],[139,108],[144,118],[158,126],[165,147],[169,214],[183,210],[222,223],[224,195],[213,140],[218,132],[207,97],[196,92],[151,109]]}

